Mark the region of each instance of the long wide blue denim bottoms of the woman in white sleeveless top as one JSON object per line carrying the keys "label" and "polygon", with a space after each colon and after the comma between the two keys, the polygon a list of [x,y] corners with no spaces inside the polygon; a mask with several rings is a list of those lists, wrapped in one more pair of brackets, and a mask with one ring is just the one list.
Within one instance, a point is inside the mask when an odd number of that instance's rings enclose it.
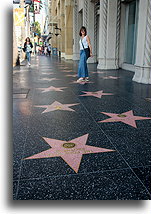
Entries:
{"label": "long wide blue denim bottoms of the woman in white sleeveless top", "polygon": [[80,50],[80,62],[78,67],[78,77],[88,77],[87,59],[84,50]]}

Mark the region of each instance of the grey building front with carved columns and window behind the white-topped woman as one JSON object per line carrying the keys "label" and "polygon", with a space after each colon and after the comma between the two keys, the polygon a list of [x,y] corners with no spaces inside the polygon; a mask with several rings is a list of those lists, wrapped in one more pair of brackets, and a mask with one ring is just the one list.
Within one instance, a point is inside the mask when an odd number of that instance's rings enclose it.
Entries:
{"label": "grey building front with carved columns and window behind the white-topped woman", "polygon": [[151,0],[74,0],[73,60],[82,25],[93,47],[89,63],[133,71],[133,81],[151,84]]}

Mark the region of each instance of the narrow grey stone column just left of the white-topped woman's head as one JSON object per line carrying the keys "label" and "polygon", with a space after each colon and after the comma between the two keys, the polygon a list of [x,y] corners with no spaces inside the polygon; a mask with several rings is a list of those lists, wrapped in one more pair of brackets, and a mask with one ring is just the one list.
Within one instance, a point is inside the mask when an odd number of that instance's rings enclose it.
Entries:
{"label": "narrow grey stone column just left of the white-topped woman's head", "polygon": [[78,4],[74,0],[73,7],[73,60],[79,60],[79,24],[78,24]]}

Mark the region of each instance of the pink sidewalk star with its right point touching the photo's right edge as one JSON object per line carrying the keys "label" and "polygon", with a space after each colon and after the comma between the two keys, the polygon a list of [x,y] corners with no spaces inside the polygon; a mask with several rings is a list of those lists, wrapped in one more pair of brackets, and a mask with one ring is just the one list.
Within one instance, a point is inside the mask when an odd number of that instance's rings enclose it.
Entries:
{"label": "pink sidewalk star with its right point touching the photo's right edge", "polygon": [[127,111],[122,114],[114,114],[114,113],[106,113],[101,112],[102,114],[105,114],[111,118],[98,121],[99,123],[108,123],[108,122],[122,122],[126,123],[127,125],[130,125],[134,128],[137,128],[135,120],[149,120],[151,117],[140,117],[140,116],[134,116],[133,111]]}

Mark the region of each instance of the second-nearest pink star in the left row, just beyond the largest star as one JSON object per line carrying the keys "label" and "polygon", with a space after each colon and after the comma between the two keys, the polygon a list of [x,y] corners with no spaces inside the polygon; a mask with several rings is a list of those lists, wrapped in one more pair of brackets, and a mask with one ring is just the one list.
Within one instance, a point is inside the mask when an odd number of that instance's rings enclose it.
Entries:
{"label": "second-nearest pink star in the left row, just beyond the largest star", "polygon": [[51,105],[35,105],[34,107],[36,107],[36,108],[45,108],[45,110],[42,112],[42,114],[43,114],[43,113],[46,113],[46,112],[56,111],[56,110],[75,111],[75,110],[69,108],[70,106],[75,106],[75,105],[79,105],[79,103],[62,104],[62,103],[59,103],[58,101],[55,101]]}

